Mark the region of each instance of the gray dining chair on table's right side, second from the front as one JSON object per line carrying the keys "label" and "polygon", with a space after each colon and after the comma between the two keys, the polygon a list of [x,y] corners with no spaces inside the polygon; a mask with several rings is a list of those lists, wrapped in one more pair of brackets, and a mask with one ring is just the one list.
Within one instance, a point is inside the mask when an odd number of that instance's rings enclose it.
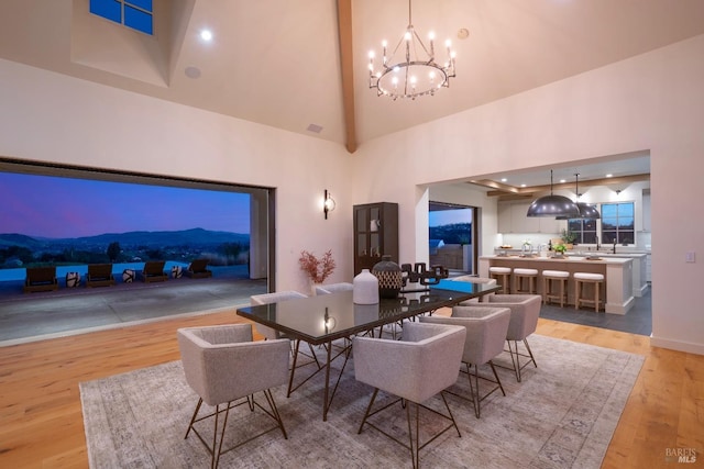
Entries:
{"label": "gray dining chair on table's right side, second from the front", "polygon": [[[466,367],[470,400],[474,404],[474,415],[477,418],[481,414],[480,404],[484,399],[499,389],[502,394],[506,395],[492,359],[504,351],[504,340],[506,340],[509,321],[510,310],[508,308],[485,306],[454,306],[450,317],[435,315],[420,319],[421,323],[451,324],[466,330],[462,362]],[[492,368],[494,379],[480,376],[479,368],[484,364],[488,364]],[[472,383],[472,368],[474,368],[474,383]],[[494,383],[483,395],[480,392],[480,378]],[[457,395],[464,398],[464,395]]]}

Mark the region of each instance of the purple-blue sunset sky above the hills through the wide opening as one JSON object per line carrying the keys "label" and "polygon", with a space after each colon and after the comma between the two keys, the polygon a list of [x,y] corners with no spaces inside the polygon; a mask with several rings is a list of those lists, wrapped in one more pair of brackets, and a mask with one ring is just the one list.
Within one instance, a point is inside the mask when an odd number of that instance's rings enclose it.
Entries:
{"label": "purple-blue sunset sky above the hills through the wide opening", "polygon": [[63,238],[131,231],[250,232],[250,196],[0,172],[0,233]]}

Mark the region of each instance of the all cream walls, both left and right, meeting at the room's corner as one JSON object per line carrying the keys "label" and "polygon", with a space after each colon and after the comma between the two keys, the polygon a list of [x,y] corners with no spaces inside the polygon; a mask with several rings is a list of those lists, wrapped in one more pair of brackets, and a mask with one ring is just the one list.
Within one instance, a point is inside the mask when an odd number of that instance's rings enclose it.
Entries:
{"label": "all cream walls, both left and right, meeting at the room's corner", "polygon": [[[355,203],[398,202],[400,257],[427,261],[429,185],[650,150],[651,343],[704,354],[704,254],[684,263],[704,241],[702,57],[697,36],[364,143],[352,157],[321,139],[0,60],[0,156],[276,187],[277,287],[302,291],[300,249],[332,248],[331,280],[350,280]],[[338,202],[328,221],[323,189]]]}

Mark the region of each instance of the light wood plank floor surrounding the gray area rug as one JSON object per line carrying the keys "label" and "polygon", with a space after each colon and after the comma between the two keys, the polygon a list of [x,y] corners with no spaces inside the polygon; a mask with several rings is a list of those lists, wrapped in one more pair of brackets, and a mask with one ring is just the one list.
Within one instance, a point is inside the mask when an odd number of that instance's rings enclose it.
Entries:
{"label": "light wood plank floor surrounding the gray area rug", "polygon": [[[88,467],[79,382],[178,359],[178,327],[238,321],[217,313],[0,348],[0,468]],[[703,356],[548,320],[538,333],[646,356],[604,468],[679,467],[667,448],[704,461]]]}

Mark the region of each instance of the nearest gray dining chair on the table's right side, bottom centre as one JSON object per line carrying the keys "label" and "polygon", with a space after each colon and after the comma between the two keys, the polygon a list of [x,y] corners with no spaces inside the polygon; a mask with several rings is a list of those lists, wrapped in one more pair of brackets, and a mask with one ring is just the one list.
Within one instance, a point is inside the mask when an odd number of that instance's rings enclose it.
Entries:
{"label": "nearest gray dining chair on the table's right side, bottom centre", "polygon": [[[366,424],[409,449],[414,468],[419,465],[418,453],[428,443],[452,427],[458,432],[458,436],[461,436],[460,428],[442,392],[458,380],[465,336],[466,330],[460,326],[408,323],[404,326],[400,340],[354,337],[354,376],[358,381],[374,388],[358,433],[362,433],[364,424]],[[372,411],[380,390],[399,399]],[[419,407],[428,409],[422,403],[438,393],[442,397],[448,414],[435,410],[430,411],[447,418],[450,423],[436,436],[420,444],[418,435]],[[393,404],[397,402],[402,402],[402,405],[406,407],[408,445],[369,421],[377,413],[393,409]],[[415,425],[411,425],[411,405],[409,405],[411,402],[415,403],[416,409]],[[413,428],[415,428],[415,435]]]}

